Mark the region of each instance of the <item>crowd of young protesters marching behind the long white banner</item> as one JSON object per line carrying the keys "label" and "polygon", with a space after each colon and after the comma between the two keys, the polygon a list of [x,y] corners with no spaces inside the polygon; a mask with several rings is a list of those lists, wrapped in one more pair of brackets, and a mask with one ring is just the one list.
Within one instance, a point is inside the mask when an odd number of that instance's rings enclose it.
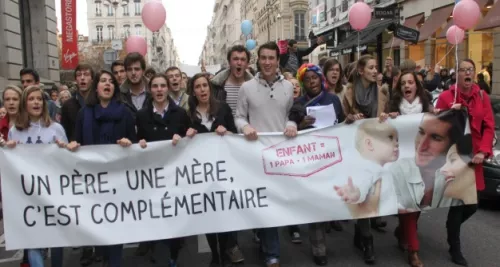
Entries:
{"label": "crowd of young protesters marching behind the long white banner", "polygon": [[[475,82],[474,62],[460,61],[458,73],[451,73],[448,82],[444,81],[448,77],[445,69],[436,66],[423,73],[411,60],[396,67],[387,58],[384,70],[379,72],[376,58],[371,55],[363,55],[344,67],[333,58],[318,66],[302,64],[302,56],[312,50],[297,51],[294,42],[289,43],[287,55],[281,54],[274,42],[262,44],[254,73],[249,68],[250,52],[236,45],[227,53],[227,69],[215,75],[200,72],[193,77],[187,77],[177,67],[156,73],[146,69],[143,56],[130,53],[123,61],[114,62],[111,71],[79,64],[74,70],[77,89],[72,94],[67,86],[47,94],[36,71],[23,69],[21,86],[4,88],[0,144],[10,149],[16,149],[16,144],[55,144],[78,153],[78,148],[86,145],[129,147],[138,143],[144,148],[148,142],[160,140],[172,140],[176,145],[181,138],[209,132],[221,136],[241,133],[253,141],[261,132],[283,132],[293,138],[298,131],[313,128],[315,118],[306,112],[312,106],[333,105],[336,124],[368,118],[383,123],[401,115],[425,113],[415,140],[415,158],[391,166],[396,188],[400,188],[398,202],[408,203],[399,210],[394,235],[401,250],[408,252],[408,264],[423,266],[417,235],[419,211],[450,206],[451,199],[459,201],[463,205],[449,209],[446,229],[452,261],[467,266],[461,252],[460,229],[477,205],[460,188],[442,189],[437,173],[447,168],[453,172],[458,168],[456,162],[462,162],[473,166],[475,173],[475,181],[464,183],[484,189],[481,163],[492,156],[494,121],[488,94],[483,94]],[[437,88],[446,91],[433,106],[429,92]],[[468,116],[461,118],[464,112]],[[470,121],[472,143],[461,141],[466,137],[465,117]],[[439,123],[443,126],[434,127]],[[380,188],[380,181],[374,186]],[[345,193],[342,188],[337,192]],[[364,203],[369,204],[371,198],[366,196]],[[359,208],[352,205],[352,212]],[[302,242],[300,227],[288,226],[294,243]],[[383,218],[360,218],[355,223],[354,245],[363,252],[367,264],[376,261],[371,229],[383,227]],[[342,231],[342,224],[312,223],[308,228],[313,262],[324,266],[328,262],[326,233],[331,229]],[[206,238],[212,251],[210,266],[244,261],[238,232],[207,234]],[[254,230],[254,241],[260,244],[267,266],[280,266],[277,228]],[[158,242],[170,248],[168,266],[177,266],[183,238],[143,242],[137,255],[154,261],[151,255]],[[122,250],[123,245],[85,247],[80,263],[88,266],[103,262],[104,266],[118,267],[122,264]],[[51,266],[61,267],[63,249],[50,251]],[[28,249],[24,255],[23,263],[44,266],[44,249]]]}

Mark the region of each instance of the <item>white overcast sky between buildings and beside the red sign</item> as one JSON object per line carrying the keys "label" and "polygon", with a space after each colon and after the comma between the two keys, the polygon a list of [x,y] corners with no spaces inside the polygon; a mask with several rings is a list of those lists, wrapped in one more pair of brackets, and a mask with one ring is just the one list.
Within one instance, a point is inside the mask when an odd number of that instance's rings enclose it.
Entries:
{"label": "white overcast sky between buildings and beside the red sign", "polygon": [[[215,0],[162,0],[167,25],[172,30],[181,62],[198,65],[207,25],[212,19]],[[61,30],[61,1],[56,0],[57,26]],[[88,35],[87,1],[77,0],[77,29]]]}

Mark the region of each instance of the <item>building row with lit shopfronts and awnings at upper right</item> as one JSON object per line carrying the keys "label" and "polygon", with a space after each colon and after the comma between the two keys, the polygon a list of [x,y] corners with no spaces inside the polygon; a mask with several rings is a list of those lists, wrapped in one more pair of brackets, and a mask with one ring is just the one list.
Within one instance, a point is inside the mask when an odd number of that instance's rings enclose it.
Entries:
{"label": "building row with lit shopfronts and awnings at upper right", "polygon": [[[458,58],[470,58],[479,72],[483,66],[492,73],[492,94],[500,97],[500,1],[474,0],[482,16],[477,25],[466,31],[464,41],[457,46]],[[348,9],[354,0],[310,0],[312,29],[317,35],[333,32],[334,44],[323,45],[314,53],[314,62],[321,57],[334,57],[345,65],[356,59],[356,33],[349,27]],[[455,47],[446,40],[446,31],[453,25],[454,0],[366,0],[372,7],[398,10],[392,24],[401,24],[419,31],[418,41],[411,43],[394,37],[391,23],[378,25],[361,33],[361,48],[377,56],[379,62],[391,56],[396,65],[404,59],[414,60],[418,66],[441,65],[456,67]],[[374,22],[375,19],[372,19]],[[371,24],[375,24],[372,23]],[[370,27],[370,25],[368,27]],[[375,30],[374,30],[375,29]],[[373,35],[377,34],[374,38]],[[351,37],[349,37],[351,36]],[[366,38],[365,38],[366,37]],[[375,49],[375,47],[377,47]],[[495,49],[496,48],[496,49]],[[379,63],[380,64],[380,63]],[[380,64],[382,66],[382,64]]]}

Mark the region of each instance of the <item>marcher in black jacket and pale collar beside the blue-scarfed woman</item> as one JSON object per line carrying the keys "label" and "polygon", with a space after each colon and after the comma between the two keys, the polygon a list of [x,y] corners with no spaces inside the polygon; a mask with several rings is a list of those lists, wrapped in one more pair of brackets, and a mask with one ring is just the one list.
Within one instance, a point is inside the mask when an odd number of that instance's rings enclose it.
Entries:
{"label": "marcher in black jacket and pale collar beside the blue-scarfed woman", "polygon": [[[189,117],[186,111],[177,106],[174,100],[168,95],[168,78],[166,75],[158,73],[151,76],[149,80],[152,100],[146,103],[145,107],[137,112],[137,139],[142,148],[147,146],[146,142],[172,140],[176,145],[185,135],[189,127]],[[150,260],[154,263],[154,241],[143,242],[140,246],[145,247],[147,252],[151,252]],[[165,240],[170,247],[169,267],[177,266],[177,259],[182,247],[182,238],[172,238]]]}

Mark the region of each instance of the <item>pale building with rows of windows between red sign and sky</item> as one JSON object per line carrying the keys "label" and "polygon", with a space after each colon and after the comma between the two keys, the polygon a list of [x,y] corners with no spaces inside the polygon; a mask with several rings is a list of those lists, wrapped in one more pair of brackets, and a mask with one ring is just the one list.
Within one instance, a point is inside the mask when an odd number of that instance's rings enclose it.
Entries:
{"label": "pale building with rows of windows between red sign and sky", "polygon": [[[111,48],[113,40],[126,40],[139,35],[146,39],[146,61],[158,71],[180,64],[174,38],[167,25],[153,33],[143,25],[141,12],[145,0],[121,0],[116,6],[107,0],[87,0],[89,42],[93,46]],[[119,50],[124,50],[123,46]]]}

